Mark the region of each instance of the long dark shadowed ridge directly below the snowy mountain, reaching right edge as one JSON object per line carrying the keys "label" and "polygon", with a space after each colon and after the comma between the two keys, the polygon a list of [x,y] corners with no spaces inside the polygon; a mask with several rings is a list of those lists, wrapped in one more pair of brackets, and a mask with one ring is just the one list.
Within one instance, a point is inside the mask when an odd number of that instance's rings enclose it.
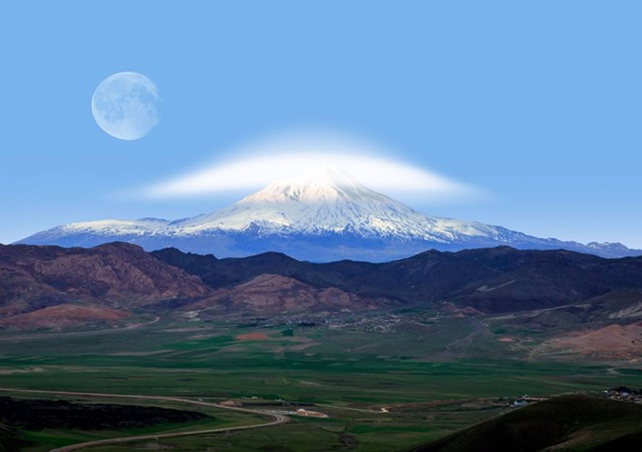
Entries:
{"label": "long dark shadowed ridge directly below the snowy mountain, reaching right edge", "polygon": [[200,276],[214,288],[270,273],[372,298],[406,303],[447,300],[485,312],[554,307],[620,289],[642,288],[640,257],[605,259],[564,250],[524,251],[506,246],[456,253],[432,250],[383,264],[351,260],[313,264],[281,253],[216,259],[174,248],[153,251],[152,255]]}

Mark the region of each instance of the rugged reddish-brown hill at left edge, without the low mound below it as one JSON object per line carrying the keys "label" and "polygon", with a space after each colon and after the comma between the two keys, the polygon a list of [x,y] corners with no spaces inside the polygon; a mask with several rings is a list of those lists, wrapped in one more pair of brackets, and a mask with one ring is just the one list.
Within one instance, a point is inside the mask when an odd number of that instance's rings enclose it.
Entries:
{"label": "rugged reddish-brown hill at left edge, without the low mound below it", "polygon": [[95,248],[0,246],[3,300],[130,300],[203,296],[198,276],[153,258],[139,246],[111,243]]}

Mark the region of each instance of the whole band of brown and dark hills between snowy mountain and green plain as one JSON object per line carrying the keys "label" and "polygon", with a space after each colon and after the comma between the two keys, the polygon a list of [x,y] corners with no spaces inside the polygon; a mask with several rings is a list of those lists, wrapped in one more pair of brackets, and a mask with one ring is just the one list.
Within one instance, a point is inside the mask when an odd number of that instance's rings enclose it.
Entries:
{"label": "whole band of brown and dark hills between snowy mountain and green plain", "polygon": [[20,329],[116,326],[176,310],[272,315],[444,302],[485,314],[541,310],[519,320],[532,325],[627,324],[642,316],[642,258],[564,250],[433,250],[382,264],[313,264],[281,253],[147,253],[119,242],[15,245],[0,246],[0,276],[0,327]]}

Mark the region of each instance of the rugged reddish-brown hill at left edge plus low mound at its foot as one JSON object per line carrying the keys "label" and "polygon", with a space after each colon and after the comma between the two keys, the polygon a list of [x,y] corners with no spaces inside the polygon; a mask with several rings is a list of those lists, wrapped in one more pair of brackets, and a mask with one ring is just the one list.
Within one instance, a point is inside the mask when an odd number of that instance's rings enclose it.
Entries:
{"label": "rugged reddish-brown hill at left edge plus low mound at its foot", "polygon": [[198,276],[135,245],[0,246],[0,327],[112,325],[128,309],[207,293]]}

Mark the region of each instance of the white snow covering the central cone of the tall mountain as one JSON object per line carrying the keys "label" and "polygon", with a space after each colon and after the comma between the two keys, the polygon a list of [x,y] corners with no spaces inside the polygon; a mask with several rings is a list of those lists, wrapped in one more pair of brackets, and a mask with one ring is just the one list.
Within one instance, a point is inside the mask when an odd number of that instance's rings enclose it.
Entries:
{"label": "white snow covering the central cone of the tall mountain", "polygon": [[209,215],[172,223],[181,233],[246,230],[320,235],[349,231],[361,237],[447,242],[462,235],[499,237],[494,226],[428,217],[379,194],[335,168],[275,181]]}

